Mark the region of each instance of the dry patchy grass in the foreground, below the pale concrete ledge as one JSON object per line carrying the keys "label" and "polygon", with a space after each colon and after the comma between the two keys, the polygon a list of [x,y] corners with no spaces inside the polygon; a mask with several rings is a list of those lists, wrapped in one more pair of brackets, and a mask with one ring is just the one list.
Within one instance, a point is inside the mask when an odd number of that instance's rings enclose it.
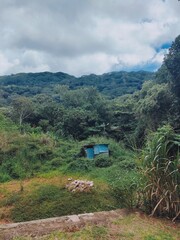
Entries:
{"label": "dry patchy grass in the foreground, below the pale concrete ledge", "polygon": [[[108,225],[86,225],[83,229],[71,232],[54,232],[39,237],[39,240],[178,240],[180,226],[161,219],[145,215],[131,214],[124,219],[109,221]],[[36,238],[37,239],[37,238]],[[13,240],[32,240],[32,238],[14,238]]]}

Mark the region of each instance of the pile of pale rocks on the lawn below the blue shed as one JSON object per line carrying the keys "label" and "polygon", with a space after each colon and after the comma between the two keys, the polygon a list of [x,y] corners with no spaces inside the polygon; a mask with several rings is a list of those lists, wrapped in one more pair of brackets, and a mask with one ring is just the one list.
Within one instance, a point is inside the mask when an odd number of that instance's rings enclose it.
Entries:
{"label": "pile of pale rocks on the lawn below the blue shed", "polygon": [[71,192],[90,192],[94,186],[93,181],[74,180],[66,185]]}

